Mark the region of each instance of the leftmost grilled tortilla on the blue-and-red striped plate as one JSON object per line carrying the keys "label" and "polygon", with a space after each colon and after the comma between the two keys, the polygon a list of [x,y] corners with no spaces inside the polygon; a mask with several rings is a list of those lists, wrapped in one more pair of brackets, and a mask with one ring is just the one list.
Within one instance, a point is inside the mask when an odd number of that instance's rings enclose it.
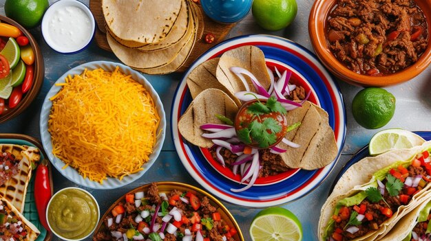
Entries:
{"label": "leftmost grilled tortilla on the blue-and-red striped plate", "polygon": [[233,100],[219,89],[202,91],[189,105],[178,122],[178,130],[182,137],[191,144],[202,148],[211,148],[213,142],[202,137],[204,131],[200,129],[203,124],[222,124],[215,115],[224,115],[235,119],[238,106]]}

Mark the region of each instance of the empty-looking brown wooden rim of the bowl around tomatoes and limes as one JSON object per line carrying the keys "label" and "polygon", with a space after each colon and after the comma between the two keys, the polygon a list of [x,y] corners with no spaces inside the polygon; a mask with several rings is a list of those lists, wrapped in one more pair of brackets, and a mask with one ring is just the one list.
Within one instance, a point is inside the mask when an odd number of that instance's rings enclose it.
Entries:
{"label": "empty-looking brown wooden rim of the bowl around tomatoes and limes", "polygon": [[[4,111],[0,114],[0,123],[7,122],[8,120],[12,119],[13,117],[16,117],[20,113],[22,113],[25,108],[30,106],[34,98],[39,94],[39,91],[41,90],[42,84],[43,84],[43,76],[45,75],[45,67],[43,65],[43,56],[41,53],[41,49],[39,49],[39,45],[37,44],[36,40],[28,32],[25,30],[25,28],[19,23],[13,21],[12,19],[9,19],[7,16],[1,16],[0,15],[0,21],[2,23],[8,23],[10,25],[14,25],[15,27],[18,27],[21,32],[23,32],[23,35],[28,38],[29,45],[32,47],[34,51],[34,71],[33,71],[33,83],[32,87],[30,87],[30,90],[28,90],[27,93],[23,94],[23,97],[21,98],[21,101],[18,103],[17,106],[14,108],[8,109],[7,111]],[[21,88],[21,85],[18,86]],[[14,87],[17,88],[17,87]],[[5,104],[8,104],[8,101],[5,101]]]}

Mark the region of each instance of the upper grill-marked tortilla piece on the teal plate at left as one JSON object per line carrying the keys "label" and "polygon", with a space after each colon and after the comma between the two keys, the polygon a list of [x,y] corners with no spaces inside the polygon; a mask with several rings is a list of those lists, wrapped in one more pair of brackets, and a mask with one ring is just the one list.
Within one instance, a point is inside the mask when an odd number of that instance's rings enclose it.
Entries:
{"label": "upper grill-marked tortilla piece on the teal plate at left", "polygon": [[20,146],[14,144],[0,144],[1,152],[12,153],[19,160],[19,172],[11,176],[6,183],[0,186],[0,195],[6,198],[19,212],[24,210],[25,194],[28,183],[32,176],[32,162],[37,162],[41,158],[38,148],[32,146]]}

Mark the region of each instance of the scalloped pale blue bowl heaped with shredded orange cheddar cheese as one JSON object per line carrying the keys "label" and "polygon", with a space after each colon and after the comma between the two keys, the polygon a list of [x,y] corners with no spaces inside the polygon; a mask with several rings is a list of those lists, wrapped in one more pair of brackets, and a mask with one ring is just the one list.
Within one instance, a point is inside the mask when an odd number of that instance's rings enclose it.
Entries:
{"label": "scalloped pale blue bowl heaped with shredded orange cheddar cheese", "polygon": [[136,181],[165,140],[162,102],[138,71],[96,61],[67,71],[41,111],[41,139],[52,165],[70,181],[113,189]]}

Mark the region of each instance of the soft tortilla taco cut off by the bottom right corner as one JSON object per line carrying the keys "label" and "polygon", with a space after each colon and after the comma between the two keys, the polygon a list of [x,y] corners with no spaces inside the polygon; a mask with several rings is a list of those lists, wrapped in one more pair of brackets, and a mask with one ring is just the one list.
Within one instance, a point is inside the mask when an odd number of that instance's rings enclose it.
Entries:
{"label": "soft tortilla taco cut off by the bottom right corner", "polygon": [[421,198],[420,205],[403,216],[380,241],[412,241],[431,239],[431,196]]}

